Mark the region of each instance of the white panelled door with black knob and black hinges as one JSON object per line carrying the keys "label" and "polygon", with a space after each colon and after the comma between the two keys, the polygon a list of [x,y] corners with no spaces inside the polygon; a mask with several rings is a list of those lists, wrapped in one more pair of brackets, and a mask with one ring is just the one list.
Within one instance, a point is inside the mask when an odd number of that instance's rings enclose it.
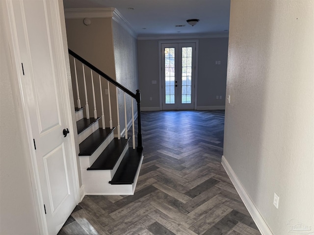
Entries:
{"label": "white panelled door with black knob and black hinges", "polygon": [[60,59],[63,44],[56,36],[61,35],[58,1],[9,0],[8,6],[14,14],[11,29],[17,33],[16,49],[23,64],[22,92],[36,149],[33,165],[41,211],[45,211],[43,223],[47,223],[46,232],[54,235],[77,205],[72,139],[62,133],[71,120],[66,115],[69,97],[64,91],[68,88],[62,85],[67,79],[65,61]]}

